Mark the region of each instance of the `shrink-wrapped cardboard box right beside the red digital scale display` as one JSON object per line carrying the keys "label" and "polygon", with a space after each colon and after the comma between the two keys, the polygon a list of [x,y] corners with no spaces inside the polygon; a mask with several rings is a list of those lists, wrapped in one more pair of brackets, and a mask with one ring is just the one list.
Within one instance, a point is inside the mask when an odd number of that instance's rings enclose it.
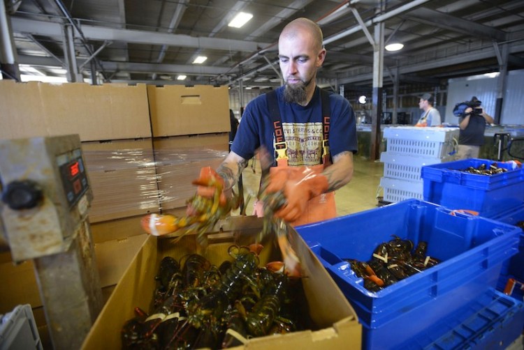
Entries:
{"label": "shrink-wrapped cardboard box right beside the red digital scale display", "polygon": [[93,202],[90,222],[159,211],[152,139],[82,142]]}

